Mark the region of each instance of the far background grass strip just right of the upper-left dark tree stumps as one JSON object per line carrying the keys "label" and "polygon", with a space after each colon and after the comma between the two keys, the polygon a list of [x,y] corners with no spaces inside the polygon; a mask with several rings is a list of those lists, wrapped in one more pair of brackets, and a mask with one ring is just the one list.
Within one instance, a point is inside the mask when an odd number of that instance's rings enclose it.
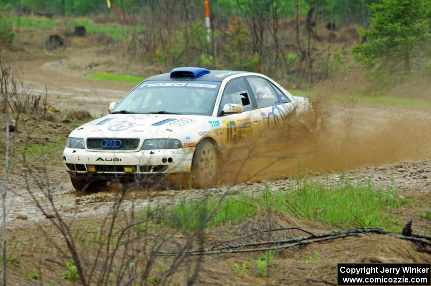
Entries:
{"label": "far background grass strip just right of the upper-left dark tree stumps", "polygon": [[120,26],[118,24],[96,24],[87,19],[76,20],[68,24],[69,26],[84,26],[89,34],[104,34],[113,37],[117,40],[125,40],[126,35],[131,35],[132,29],[136,32],[142,32],[146,30],[145,26]]}

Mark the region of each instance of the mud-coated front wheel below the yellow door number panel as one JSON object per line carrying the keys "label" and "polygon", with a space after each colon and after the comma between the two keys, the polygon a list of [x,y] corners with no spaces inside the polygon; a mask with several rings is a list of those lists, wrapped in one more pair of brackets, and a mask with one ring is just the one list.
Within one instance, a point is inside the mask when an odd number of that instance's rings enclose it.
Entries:
{"label": "mud-coated front wheel below the yellow door number panel", "polygon": [[195,150],[192,162],[192,185],[207,188],[219,179],[219,158],[217,149],[209,140],[203,140]]}

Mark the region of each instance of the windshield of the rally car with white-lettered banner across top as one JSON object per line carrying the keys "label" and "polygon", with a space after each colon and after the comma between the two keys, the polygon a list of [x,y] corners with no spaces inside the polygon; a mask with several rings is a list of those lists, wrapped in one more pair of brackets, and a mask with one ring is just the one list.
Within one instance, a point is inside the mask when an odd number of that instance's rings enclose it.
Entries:
{"label": "windshield of the rally car with white-lettered banner across top", "polygon": [[211,115],[219,88],[218,81],[144,81],[111,113]]}

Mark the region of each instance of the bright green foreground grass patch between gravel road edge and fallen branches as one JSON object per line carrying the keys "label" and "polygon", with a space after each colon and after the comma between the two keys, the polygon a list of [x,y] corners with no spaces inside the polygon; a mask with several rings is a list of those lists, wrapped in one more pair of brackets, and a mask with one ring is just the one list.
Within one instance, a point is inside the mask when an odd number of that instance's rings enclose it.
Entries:
{"label": "bright green foreground grass patch between gravel road edge and fallen branches", "polygon": [[[288,190],[266,191],[258,196],[241,194],[220,200],[182,199],[173,207],[157,206],[147,210],[156,222],[189,231],[239,222],[258,211],[284,212],[310,220],[326,222],[333,227],[383,227],[400,229],[387,212],[409,203],[392,188],[383,189],[370,182],[348,181],[326,186],[311,179],[297,180]],[[206,222],[205,222],[206,221]]]}

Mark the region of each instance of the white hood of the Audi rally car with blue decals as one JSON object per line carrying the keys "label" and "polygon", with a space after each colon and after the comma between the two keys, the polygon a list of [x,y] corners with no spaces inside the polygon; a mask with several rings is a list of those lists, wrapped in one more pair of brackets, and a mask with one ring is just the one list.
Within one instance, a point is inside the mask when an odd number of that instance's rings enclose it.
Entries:
{"label": "white hood of the Audi rally car with blue decals", "polygon": [[175,131],[205,121],[208,117],[176,114],[108,114],[78,127],[69,137],[169,138]]}

